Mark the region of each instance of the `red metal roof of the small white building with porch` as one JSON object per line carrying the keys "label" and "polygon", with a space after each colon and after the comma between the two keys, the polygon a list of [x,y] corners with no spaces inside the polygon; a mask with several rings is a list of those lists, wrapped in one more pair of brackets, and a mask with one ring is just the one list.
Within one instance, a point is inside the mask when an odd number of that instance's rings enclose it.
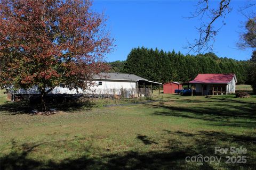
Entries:
{"label": "red metal roof of the small white building with porch", "polygon": [[228,84],[232,79],[235,78],[235,74],[198,74],[197,77],[189,81],[189,83],[200,84],[200,83],[212,83],[212,84]]}

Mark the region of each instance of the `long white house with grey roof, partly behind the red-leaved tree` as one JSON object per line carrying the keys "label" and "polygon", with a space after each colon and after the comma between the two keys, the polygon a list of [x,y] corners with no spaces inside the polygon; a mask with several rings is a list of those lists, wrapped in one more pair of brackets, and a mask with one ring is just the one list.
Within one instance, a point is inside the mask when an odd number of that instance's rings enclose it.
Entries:
{"label": "long white house with grey roof, partly behind the red-leaved tree", "polygon": [[[90,87],[86,91],[82,89],[70,90],[60,84],[59,87],[55,87],[49,94],[87,94],[87,95],[123,95],[126,98],[145,96],[151,92],[153,85],[161,84],[154,81],[141,78],[134,74],[124,73],[100,73],[94,75],[91,80],[94,86]],[[13,91],[12,95],[38,95],[40,92],[36,87],[31,89],[19,89]],[[10,97],[9,97],[10,98]]]}

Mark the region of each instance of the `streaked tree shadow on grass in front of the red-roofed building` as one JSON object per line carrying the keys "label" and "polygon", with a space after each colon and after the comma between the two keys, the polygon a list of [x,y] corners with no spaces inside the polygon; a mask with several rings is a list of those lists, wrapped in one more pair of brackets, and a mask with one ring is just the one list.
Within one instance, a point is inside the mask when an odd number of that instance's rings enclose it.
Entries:
{"label": "streaked tree shadow on grass in front of the red-roofed building", "polygon": [[[187,101],[187,100],[185,100]],[[184,102],[185,102],[184,101]],[[188,101],[189,103],[191,101]],[[207,101],[206,101],[207,102]],[[207,105],[177,106],[174,104],[143,104],[153,108],[164,108],[154,112],[154,115],[176,116],[211,121],[214,125],[242,126],[247,128],[256,127],[256,104],[216,103]]]}

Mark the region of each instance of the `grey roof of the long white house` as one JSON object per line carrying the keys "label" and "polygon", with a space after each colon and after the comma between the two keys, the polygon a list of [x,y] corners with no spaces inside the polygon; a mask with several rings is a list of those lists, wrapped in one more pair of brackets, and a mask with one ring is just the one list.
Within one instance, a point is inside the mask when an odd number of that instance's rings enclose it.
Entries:
{"label": "grey roof of the long white house", "polygon": [[99,73],[97,75],[94,75],[93,79],[147,81],[147,82],[162,84],[154,81],[149,81],[147,79],[139,77],[138,75],[125,74],[125,73]]}

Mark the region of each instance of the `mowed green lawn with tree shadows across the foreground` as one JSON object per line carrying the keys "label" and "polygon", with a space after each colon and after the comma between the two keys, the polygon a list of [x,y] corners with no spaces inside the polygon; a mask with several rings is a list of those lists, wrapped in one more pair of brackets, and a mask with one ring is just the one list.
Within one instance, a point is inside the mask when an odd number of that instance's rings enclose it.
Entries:
{"label": "mowed green lawn with tree shadows across the foreground", "polygon": [[[26,104],[0,99],[1,169],[256,167],[256,96],[161,94],[148,103],[59,108],[50,116],[28,114]],[[214,147],[243,147],[247,153],[215,154]],[[221,157],[220,163],[186,162],[199,154]],[[227,164],[226,156],[246,156],[246,163]]]}

